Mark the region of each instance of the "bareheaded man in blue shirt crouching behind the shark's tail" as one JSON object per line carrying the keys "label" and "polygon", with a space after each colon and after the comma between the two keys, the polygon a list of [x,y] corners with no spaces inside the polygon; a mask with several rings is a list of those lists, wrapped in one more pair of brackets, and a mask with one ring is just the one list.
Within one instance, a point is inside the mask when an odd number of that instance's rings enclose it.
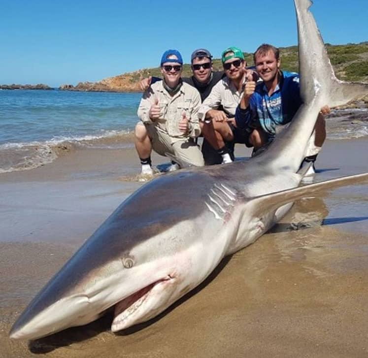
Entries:
{"label": "bareheaded man in blue shirt crouching behind the shark's tail", "polygon": [[[246,145],[254,147],[253,155],[267,148],[275,136],[276,126],[289,123],[298,111],[300,97],[299,75],[280,70],[279,50],[268,44],[261,45],[254,53],[256,70],[263,82],[248,81],[244,95],[236,109],[235,121],[246,136]],[[323,107],[315,125],[314,146],[308,149],[306,162],[316,160],[326,139],[324,114],[330,112]]]}

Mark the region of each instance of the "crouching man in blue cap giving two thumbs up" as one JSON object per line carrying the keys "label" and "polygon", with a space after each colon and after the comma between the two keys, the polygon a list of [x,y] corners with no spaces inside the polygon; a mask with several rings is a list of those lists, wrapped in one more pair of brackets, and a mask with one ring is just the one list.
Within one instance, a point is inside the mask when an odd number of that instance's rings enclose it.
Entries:
{"label": "crouching man in blue cap giving two thumbs up", "polygon": [[[204,165],[194,139],[201,133],[199,92],[181,79],[183,60],[177,50],[167,50],[161,58],[164,80],[145,91],[138,107],[141,120],[135,127],[135,149],[142,164],[142,175],[153,174],[152,149],[175,161],[175,167]],[[173,168],[175,169],[175,168]]]}

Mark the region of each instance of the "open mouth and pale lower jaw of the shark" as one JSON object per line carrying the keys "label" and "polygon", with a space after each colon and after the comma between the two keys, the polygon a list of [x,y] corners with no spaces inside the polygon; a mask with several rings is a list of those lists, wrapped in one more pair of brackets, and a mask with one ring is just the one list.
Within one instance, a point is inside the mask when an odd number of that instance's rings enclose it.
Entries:
{"label": "open mouth and pale lower jaw of the shark", "polygon": [[152,318],[152,310],[156,311],[160,295],[174,281],[172,276],[167,275],[116,303],[111,330],[117,332]]}

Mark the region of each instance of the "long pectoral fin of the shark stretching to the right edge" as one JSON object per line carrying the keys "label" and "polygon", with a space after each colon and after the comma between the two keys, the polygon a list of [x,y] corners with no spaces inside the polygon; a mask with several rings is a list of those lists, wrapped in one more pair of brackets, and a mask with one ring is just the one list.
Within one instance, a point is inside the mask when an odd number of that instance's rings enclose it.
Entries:
{"label": "long pectoral fin of the shark stretching to the right edge", "polygon": [[256,211],[261,213],[266,210],[276,210],[280,206],[293,202],[306,195],[311,195],[321,190],[330,190],[349,184],[358,184],[368,180],[368,173],[349,175],[342,178],[325,180],[320,183],[305,185],[303,187],[282,190],[280,192],[254,197]]}

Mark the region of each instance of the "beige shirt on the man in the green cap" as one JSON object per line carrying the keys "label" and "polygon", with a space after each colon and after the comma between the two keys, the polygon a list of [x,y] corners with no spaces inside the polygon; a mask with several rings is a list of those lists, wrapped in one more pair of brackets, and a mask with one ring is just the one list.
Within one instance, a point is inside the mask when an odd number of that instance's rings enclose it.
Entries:
{"label": "beige shirt on the man in the green cap", "polygon": [[223,78],[213,86],[211,93],[203,101],[198,111],[199,119],[204,121],[206,113],[210,109],[217,109],[220,105],[226,114],[234,117],[242,95],[243,91],[239,92],[228,77]]}

